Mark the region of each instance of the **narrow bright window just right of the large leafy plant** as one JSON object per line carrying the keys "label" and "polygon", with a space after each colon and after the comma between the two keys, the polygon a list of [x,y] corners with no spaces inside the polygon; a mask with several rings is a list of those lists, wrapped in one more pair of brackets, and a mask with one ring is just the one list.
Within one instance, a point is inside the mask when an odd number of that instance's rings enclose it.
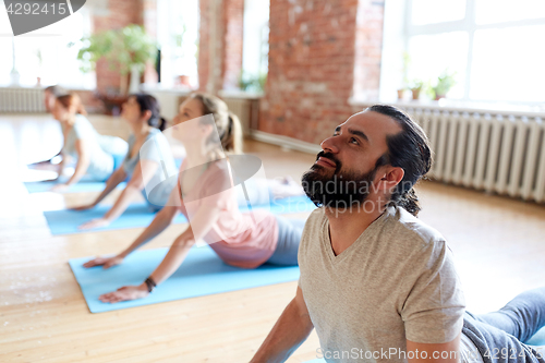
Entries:
{"label": "narrow bright window just right of the large leafy plant", "polygon": [[198,87],[198,0],[159,0],[157,38],[161,49],[161,85]]}

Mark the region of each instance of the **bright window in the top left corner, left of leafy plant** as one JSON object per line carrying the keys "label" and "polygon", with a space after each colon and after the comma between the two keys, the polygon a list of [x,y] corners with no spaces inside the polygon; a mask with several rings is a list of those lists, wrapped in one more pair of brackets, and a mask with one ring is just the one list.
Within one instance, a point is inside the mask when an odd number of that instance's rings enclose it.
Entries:
{"label": "bright window in the top left corner, left of leafy plant", "polygon": [[13,37],[5,7],[3,1],[0,2],[0,85],[11,85],[14,61],[21,86],[35,86],[40,77],[41,85],[46,86],[61,84],[68,88],[95,88],[95,74],[80,71],[78,49],[68,47],[69,43],[89,32],[90,17],[84,7],[57,23]]}

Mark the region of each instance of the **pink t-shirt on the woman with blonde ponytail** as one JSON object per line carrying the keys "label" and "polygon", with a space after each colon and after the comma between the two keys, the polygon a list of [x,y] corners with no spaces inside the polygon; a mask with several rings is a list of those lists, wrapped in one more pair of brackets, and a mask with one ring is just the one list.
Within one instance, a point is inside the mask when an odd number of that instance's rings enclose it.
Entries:
{"label": "pink t-shirt on the woman with blonde ponytail", "polygon": [[[180,167],[180,176],[186,169],[186,160]],[[202,173],[189,193],[181,195],[181,213],[192,221],[202,207],[218,207],[218,219],[203,240],[226,263],[237,267],[255,268],[275,252],[278,240],[278,222],[266,210],[241,213],[227,159],[191,168],[187,172]],[[178,190],[181,192],[179,180]],[[198,226],[191,223],[195,233]],[[198,233],[197,233],[198,234]]]}

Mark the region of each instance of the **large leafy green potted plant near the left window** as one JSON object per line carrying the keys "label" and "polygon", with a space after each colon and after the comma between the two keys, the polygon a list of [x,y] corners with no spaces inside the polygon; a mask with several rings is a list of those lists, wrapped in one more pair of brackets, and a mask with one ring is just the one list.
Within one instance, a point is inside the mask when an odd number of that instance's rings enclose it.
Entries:
{"label": "large leafy green potted plant near the left window", "polygon": [[[110,70],[120,73],[119,96],[125,97],[129,90],[129,73],[137,73],[133,76],[138,82],[140,74],[144,72],[146,63],[155,61],[157,45],[140,25],[129,25],[121,29],[112,29],[93,34],[81,39],[83,47],[77,52],[81,61],[81,70],[88,72],[96,68],[99,59],[106,59]],[[70,44],[69,46],[73,46]],[[134,92],[137,84],[130,88]]]}

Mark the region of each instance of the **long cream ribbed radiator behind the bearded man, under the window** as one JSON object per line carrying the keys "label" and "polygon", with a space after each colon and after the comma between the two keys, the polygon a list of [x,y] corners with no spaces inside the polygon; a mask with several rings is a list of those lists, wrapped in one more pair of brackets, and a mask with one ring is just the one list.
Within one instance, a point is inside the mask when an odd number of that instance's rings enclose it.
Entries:
{"label": "long cream ribbed radiator behind the bearded man, under the window", "polygon": [[543,114],[405,107],[435,153],[434,180],[545,201]]}

